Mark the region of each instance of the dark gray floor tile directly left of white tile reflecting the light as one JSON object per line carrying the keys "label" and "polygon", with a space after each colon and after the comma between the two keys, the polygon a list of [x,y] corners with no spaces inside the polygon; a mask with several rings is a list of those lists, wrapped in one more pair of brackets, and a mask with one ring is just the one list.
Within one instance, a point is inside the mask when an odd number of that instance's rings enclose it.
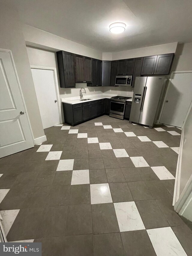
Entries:
{"label": "dark gray floor tile directly left of white tile reflecting the light", "polygon": [[91,203],[90,185],[72,185],[70,188],[69,204],[87,204]]}

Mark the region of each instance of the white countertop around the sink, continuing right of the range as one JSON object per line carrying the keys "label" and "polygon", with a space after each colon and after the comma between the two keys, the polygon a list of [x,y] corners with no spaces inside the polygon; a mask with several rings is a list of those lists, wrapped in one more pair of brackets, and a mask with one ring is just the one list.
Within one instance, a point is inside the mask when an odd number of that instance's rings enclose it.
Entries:
{"label": "white countertop around the sink, continuing right of the range", "polygon": [[[114,97],[114,96],[117,96],[117,94],[107,94],[107,93],[99,93],[99,94],[92,94],[92,95],[83,94],[82,99],[90,99],[88,101],[96,101],[96,100],[101,100],[105,98],[110,99],[111,97]],[[80,96],[61,98],[61,102],[65,102],[68,104],[78,104],[78,103],[88,102],[88,101],[80,101]],[[128,99],[127,101],[132,101],[132,98]]]}

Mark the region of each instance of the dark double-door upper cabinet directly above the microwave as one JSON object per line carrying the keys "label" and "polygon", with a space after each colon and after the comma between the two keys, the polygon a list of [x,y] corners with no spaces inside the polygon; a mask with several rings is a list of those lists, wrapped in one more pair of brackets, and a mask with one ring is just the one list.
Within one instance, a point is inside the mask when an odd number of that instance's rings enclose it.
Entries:
{"label": "dark double-door upper cabinet directly above the microwave", "polygon": [[117,61],[117,75],[133,75],[135,59],[120,59]]}

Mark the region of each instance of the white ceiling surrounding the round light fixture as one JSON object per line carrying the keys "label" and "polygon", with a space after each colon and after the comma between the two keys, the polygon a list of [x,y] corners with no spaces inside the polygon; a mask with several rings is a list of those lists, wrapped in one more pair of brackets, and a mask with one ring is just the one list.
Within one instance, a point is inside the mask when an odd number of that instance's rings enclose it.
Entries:
{"label": "white ceiling surrounding the round light fixture", "polygon": [[[192,41],[191,0],[11,0],[23,23],[102,52]],[[109,25],[126,31],[111,34]]]}

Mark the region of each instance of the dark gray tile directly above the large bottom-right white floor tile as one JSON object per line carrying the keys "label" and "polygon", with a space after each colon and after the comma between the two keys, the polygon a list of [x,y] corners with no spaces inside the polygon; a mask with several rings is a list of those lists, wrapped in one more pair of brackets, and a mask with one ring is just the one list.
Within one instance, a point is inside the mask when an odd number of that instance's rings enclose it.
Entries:
{"label": "dark gray tile directly above the large bottom-right white floor tile", "polygon": [[155,200],[135,203],[146,229],[170,226]]}

